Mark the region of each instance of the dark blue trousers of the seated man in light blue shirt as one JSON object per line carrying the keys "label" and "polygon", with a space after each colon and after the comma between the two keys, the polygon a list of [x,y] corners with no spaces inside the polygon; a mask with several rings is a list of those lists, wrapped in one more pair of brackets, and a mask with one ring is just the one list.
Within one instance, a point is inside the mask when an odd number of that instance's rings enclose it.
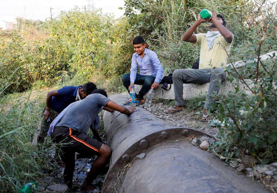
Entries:
{"label": "dark blue trousers of the seated man in light blue shirt", "polygon": [[[139,100],[143,99],[143,95],[145,95],[148,92],[148,90],[151,88],[151,85],[154,83],[155,78],[156,77],[154,77],[154,76],[137,74],[134,84],[143,85],[139,91],[139,94],[138,95],[136,94],[136,97]],[[128,93],[130,93],[130,91],[128,90],[128,88],[130,86],[130,73],[123,75],[122,82],[123,82],[123,85],[125,86],[125,88],[127,89]]]}

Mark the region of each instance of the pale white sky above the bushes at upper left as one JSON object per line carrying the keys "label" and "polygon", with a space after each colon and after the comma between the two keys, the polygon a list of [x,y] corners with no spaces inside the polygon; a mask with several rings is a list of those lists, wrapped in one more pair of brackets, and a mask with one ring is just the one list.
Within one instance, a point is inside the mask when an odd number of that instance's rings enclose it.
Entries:
{"label": "pale white sky above the bushes at upper left", "polygon": [[88,4],[94,4],[95,8],[102,8],[103,13],[114,13],[116,18],[124,14],[124,10],[118,9],[118,7],[124,7],[124,0],[0,0],[0,19],[24,17],[45,21],[50,17],[50,7],[52,17],[56,17],[61,10],[71,10],[75,5],[82,10],[84,6],[88,9]]}

